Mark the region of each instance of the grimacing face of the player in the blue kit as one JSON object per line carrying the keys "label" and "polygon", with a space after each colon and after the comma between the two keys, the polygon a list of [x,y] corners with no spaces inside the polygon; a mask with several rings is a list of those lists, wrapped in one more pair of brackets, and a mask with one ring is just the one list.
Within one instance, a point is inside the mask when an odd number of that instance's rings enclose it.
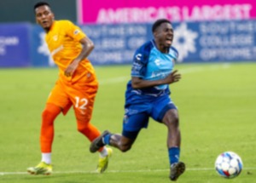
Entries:
{"label": "grimacing face of the player in the blue kit", "polygon": [[155,41],[163,48],[170,48],[173,40],[173,28],[169,23],[162,23],[154,32]]}

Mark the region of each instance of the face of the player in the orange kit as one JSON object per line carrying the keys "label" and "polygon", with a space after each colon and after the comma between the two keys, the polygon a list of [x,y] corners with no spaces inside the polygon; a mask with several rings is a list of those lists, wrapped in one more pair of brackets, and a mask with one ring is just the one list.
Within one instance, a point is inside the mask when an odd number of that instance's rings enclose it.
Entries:
{"label": "face of the player in the orange kit", "polygon": [[49,31],[50,26],[54,21],[54,14],[51,12],[48,6],[39,6],[35,9],[36,20],[44,30]]}

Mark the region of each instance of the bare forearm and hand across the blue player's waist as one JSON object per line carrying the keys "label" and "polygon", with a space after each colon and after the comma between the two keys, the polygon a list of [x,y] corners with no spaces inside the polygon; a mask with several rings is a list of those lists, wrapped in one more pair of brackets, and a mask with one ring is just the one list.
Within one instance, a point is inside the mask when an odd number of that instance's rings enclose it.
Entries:
{"label": "bare forearm and hand across the blue player's waist", "polygon": [[177,73],[177,70],[172,71],[166,78],[160,79],[160,80],[144,80],[141,79],[140,77],[131,77],[131,85],[133,89],[143,89],[143,88],[148,88],[148,87],[154,87],[158,86],[160,84],[171,84],[178,82],[179,79],[181,78],[181,75]]}

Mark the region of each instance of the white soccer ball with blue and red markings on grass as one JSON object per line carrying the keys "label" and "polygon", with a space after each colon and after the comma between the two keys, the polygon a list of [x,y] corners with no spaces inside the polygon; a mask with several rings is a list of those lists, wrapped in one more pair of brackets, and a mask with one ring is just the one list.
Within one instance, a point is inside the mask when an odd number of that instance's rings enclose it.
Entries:
{"label": "white soccer ball with blue and red markings on grass", "polygon": [[223,152],[215,161],[217,173],[224,178],[235,178],[241,173],[242,162],[235,152]]}

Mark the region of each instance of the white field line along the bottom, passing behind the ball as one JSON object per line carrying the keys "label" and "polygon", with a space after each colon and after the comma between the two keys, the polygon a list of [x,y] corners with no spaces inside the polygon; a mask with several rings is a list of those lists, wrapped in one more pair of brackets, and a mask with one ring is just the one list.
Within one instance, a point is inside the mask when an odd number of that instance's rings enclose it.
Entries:
{"label": "white field line along the bottom, passing behind the ball", "polygon": [[[256,167],[246,167],[243,170],[253,170]],[[146,172],[168,172],[169,169],[139,169],[139,170],[108,170],[104,174],[117,173],[146,173]],[[215,171],[213,168],[186,169],[186,171]],[[8,174],[28,174],[27,172],[0,172],[0,175]],[[53,174],[98,174],[96,171],[56,171]]]}

